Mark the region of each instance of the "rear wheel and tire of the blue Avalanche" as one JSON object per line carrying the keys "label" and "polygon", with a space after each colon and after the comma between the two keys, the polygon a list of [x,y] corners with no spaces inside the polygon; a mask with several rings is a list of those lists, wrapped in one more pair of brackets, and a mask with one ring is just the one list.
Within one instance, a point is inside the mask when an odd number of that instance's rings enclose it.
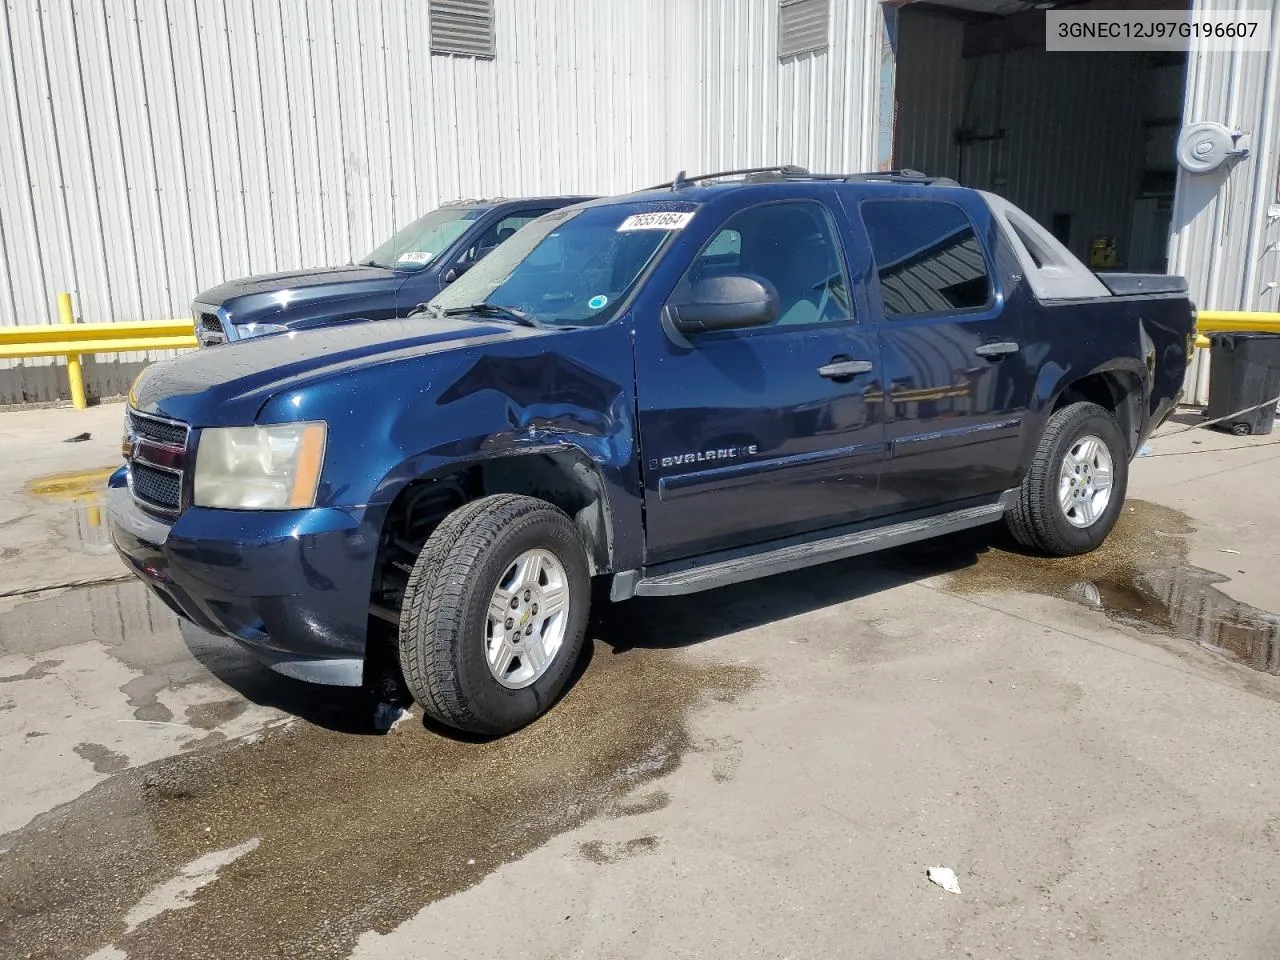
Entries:
{"label": "rear wheel and tire of the blue Avalanche", "polygon": [[1005,524],[1019,544],[1057,557],[1097,549],[1124,509],[1129,451],[1097,403],[1053,412]]}

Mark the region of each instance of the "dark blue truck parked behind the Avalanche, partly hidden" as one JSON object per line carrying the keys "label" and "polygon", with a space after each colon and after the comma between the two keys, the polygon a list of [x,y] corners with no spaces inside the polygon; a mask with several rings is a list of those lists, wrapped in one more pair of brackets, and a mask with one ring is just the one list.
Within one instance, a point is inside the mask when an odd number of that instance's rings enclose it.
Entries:
{"label": "dark blue truck parked behind the Avalanche, partly hidden", "polygon": [[402,228],[358,264],[230,280],[191,305],[202,347],[348,320],[406,316],[543,214],[591,197],[462,200]]}

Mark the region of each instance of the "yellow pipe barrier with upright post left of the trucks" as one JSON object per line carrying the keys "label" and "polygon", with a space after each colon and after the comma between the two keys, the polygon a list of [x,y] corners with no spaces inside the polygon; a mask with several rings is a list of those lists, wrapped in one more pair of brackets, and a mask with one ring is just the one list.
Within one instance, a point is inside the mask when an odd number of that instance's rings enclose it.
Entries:
{"label": "yellow pipe barrier with upright post left of the trucks", "polygon": [[77,324],[69,293],[58,294],[56,324],[0,328],[0,360],[67,357],[72,406],[84,410],[83,353],[124,353],[198,347],[191,320],[131,320],[119,324]]}

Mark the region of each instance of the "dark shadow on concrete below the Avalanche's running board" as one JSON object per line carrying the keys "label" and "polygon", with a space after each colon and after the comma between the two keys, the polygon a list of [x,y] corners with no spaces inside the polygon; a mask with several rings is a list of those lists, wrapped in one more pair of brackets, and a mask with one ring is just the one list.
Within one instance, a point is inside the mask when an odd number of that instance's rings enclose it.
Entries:
{"label": "dark shadow on concrete below the Avalanche's running board", "polygon": [[992,545],[1011,549],[1006,539],[988,526],[689,596],[599,603],[589,636],[616,654],[690,646],[969,567]]}

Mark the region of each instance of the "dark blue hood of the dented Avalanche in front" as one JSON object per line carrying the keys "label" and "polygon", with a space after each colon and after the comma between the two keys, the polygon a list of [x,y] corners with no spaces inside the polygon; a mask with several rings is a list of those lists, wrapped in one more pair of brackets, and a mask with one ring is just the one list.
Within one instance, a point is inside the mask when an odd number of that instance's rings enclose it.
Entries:
{"label": "dark blue hood of the dented Avalanche in front", "polygon": [[283,333],[152,364],[134,381],[129,403],[192,426],[247,425],[271,397],[344,370],[548,333],[486,320],[424,316]]}

